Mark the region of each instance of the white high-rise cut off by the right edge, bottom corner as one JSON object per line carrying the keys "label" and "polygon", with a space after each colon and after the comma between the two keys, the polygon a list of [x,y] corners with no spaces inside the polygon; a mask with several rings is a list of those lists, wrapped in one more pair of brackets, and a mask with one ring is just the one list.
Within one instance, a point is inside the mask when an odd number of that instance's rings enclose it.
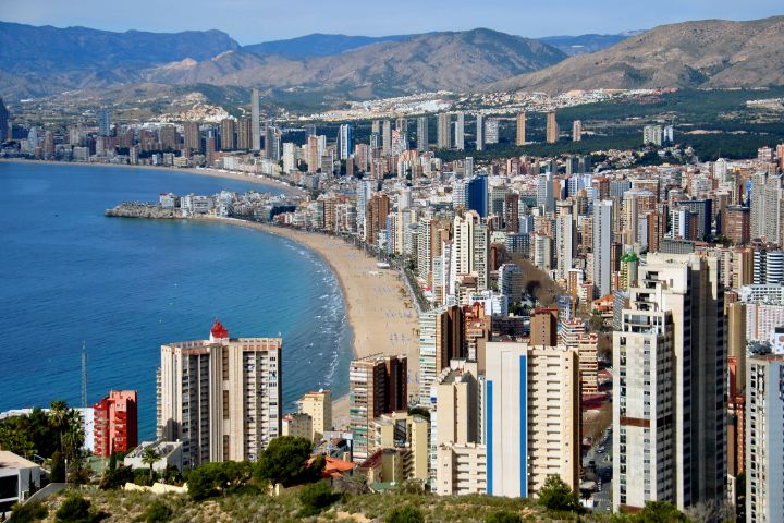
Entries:
{"label": "white high-rise cut off by the right edge, bottom corner", "polygon": [[752,355],[746,373],[746,521],[782,521],[784,355]]}

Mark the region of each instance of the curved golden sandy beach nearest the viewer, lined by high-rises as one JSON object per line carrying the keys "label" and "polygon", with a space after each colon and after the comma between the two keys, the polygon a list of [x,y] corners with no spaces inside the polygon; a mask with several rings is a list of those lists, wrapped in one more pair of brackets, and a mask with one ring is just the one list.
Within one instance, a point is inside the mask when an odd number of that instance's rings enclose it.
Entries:
{"label": "curved golden sandy beach nearest the viewer, lined by high-rises", "polygon": [[[408,356],[408,394],[416,393],[419,368],[419,321],[400,272],[379,269],[376,258],[340,238],[317,232],[273,227],[234,218],[199,218],[231,223],[294,241],[318,254],[335,275],[352,327],[355,358],[372,354]],[[347,426],[348,396],[334,398],[332,421]]]}

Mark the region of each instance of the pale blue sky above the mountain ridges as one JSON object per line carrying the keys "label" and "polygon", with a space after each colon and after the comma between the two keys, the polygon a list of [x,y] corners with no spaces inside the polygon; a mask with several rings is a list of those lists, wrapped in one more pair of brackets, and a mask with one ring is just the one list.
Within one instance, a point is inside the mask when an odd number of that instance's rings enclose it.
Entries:
{"label": "pale blue sky above the mountain ridges", "polygon": [[784,14],[782,0],[0,0],[0,20],[107,31],[221,29],[240,44],[310,33],[384,36],[488,27],[527,37]]}

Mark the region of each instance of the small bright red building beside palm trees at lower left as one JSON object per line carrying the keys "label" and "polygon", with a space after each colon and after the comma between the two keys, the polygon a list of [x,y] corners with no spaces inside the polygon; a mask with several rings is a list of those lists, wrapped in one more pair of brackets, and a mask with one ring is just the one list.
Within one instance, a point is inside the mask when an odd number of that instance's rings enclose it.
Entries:
{"label": "small bright red building beside palm trees at lower left", "polygon": [[138,400],[135,390],[110,390],[93,405],[96,455],[109,458],[138,445]]}

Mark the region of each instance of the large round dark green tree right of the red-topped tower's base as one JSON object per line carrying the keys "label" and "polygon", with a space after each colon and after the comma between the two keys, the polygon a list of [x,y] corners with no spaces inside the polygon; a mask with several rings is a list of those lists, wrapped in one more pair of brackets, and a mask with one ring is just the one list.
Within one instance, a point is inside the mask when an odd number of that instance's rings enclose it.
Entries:
{"label": "large round dark green tree right of the red-topped tower's base", "polygon": [[302,483],[311,449],[313,442],[307,438],[274,438],[259,455],[256,477],[284,487]]}

